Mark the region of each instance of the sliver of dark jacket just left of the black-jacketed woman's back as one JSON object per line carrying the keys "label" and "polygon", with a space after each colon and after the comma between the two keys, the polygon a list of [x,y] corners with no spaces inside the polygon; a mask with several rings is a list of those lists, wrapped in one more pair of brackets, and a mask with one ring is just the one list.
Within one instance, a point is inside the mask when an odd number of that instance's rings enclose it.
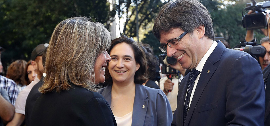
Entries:
{"label": "sliver of dark jacket just left of the black-jacketed woman's back", "polygon": [[36,102],[36,100],[38,99],[38,97],[41,95],[41,93],[38,91],[38,88],[41,87],[44,83],[44,78],[43,76],[41,76],[40,81],[38,81],[38,83],[36,85],[34,85],[31,89],[31,91],[29,92],[27,99],[26,99],[26,103],[25,103],[25,125],[30,125],[30,120],[31,120],[31,112],[33,109],[33,106]]}

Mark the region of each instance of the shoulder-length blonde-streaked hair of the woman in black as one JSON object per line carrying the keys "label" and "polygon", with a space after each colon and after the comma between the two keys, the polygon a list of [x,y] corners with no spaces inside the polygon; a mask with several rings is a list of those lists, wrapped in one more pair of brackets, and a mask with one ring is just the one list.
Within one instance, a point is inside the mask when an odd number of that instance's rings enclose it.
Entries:
{"label": "shoulder-length blonde-streaked hair of the woman in black", "polygon": [[54,29],[46,54],[41,93],[68,90],[71,84],[95,89],[94,66],[97,56],[109,48],[111,35],[104,25],[90,18],[75,17]]}

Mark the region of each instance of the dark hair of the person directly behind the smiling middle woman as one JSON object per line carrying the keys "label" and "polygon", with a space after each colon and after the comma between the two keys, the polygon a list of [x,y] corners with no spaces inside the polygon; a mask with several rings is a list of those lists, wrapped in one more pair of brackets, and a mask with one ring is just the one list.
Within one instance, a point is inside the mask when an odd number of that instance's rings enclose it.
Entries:
{"label": "dark hair of the person directly behind the smiling middle woman", "polygon": [[146,59],[147,59],[147,75],[149,77],[150,80],[155,81],[156,78],[156,71],[157,71],[157,65],[159,65],[159,61],[157,60],[157,58],[154,56],[154,51],[153,49],[150,47],[149,44],[141,44],[142,49],[144,50],[144,53],[146,55]]}

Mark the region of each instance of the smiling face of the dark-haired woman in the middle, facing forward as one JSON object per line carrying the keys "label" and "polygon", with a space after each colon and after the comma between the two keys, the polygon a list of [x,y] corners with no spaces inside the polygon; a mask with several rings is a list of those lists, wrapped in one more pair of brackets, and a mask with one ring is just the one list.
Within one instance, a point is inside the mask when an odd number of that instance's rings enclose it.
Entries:
{"label": "smiling face of the dark-haired woman in the middle, facing forward", "polygon": [[108,70],[113,79],[113,83],[134,83],[135,72],[140,68],[140,64],[135,61],[133,49],[126,43],[119,43],[111,49]]}

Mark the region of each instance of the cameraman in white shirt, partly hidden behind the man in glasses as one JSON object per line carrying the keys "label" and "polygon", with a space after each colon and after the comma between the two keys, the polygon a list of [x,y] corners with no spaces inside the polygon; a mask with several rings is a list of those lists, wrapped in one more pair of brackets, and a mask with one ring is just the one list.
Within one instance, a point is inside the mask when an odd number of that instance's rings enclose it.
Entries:
{"label": "cameraman in white shirt, partly hidden behind the man in glasses", "polygon": [[162,77],[159,82],[159,87],[167,96],[171,105],[172,112],[174,112],[177,106],[178,85],[184,78],[186,69],[182,68],[181,64],[178,62],[168,65],[171,66],[171,68],[178,70],[180,74],[179,76],[177,74],[172,74],[172,80],[168,79],[168,77]]}

